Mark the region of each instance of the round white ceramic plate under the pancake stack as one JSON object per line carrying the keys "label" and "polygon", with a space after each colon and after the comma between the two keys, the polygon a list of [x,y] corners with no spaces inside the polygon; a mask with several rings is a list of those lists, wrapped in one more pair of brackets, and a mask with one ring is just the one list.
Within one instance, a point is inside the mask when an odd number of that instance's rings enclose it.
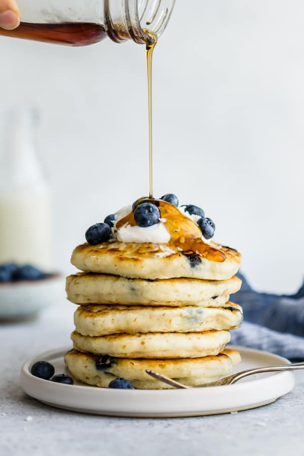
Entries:
{"label": "round white ceramic plate under the pancake stack", "polygon": [[[236,371],[289,362],[271,353],[234,348],[242,356]],[[77,381],[74,385],[62,385],[31,375],[30,368],[36,361],[49,361],[56,373],[69,373],[63,359],[69,349],[52,350],[27,360],[21,369],[21,386],[25,393],[53,407],[82,413],[171,417],[228,413],[259,407],[274,402],[294,386],[294,374],[290,371],[252,375],[231,386],[188,390],[116,390],[92,387]]]}

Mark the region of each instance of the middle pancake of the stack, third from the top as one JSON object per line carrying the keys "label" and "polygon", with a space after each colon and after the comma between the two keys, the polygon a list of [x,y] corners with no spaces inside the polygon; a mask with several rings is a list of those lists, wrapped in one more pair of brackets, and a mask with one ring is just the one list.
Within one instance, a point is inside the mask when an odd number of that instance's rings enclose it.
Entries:
{"label": "middle pancake of the stack, third from the top", "polygon": [[74,313],[76,331],[102,336],[118,333],[202,332],[232,329],[243,321],[242,309],[227,302],[223,308],[81,306]]}

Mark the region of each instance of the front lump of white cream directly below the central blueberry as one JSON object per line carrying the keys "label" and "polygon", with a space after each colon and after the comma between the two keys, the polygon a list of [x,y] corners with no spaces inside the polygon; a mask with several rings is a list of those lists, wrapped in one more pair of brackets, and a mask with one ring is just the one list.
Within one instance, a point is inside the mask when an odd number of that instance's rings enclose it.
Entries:
{"label": "front lump of white cream directly below the central blueberry", "polygon": [[170,241],[170,233],[164,223],[159,222],[152,226],[123,225],[117,231],[117,239],[121,242],[153,242],[154,244],[167,244]]}

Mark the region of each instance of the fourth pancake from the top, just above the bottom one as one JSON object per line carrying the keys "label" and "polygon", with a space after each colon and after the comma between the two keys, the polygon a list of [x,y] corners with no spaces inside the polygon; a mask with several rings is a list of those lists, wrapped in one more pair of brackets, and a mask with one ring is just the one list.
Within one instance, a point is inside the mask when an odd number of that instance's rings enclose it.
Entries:
{"label": "fourth pancake from the top, just above the bottom one", "polygon": [[200,358],[222,352],[230,341],[230,332],[149,332],[93,337],[73,331],[71,339],[76,350],[116,358]]}

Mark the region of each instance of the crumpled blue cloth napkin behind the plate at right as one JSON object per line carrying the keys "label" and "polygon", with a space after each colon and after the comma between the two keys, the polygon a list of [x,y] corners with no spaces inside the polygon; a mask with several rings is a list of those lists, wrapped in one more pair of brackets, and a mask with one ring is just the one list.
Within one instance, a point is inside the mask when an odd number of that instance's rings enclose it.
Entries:
{"label": "crumpled blue cloth napkin behind the plate at right", "polygon": [[244,322],[231,332],[231,343],[303,360],[304,283],[292,295],[258,293],[242,274],[238,276],[243,285],[232,300],[242,306]]}

